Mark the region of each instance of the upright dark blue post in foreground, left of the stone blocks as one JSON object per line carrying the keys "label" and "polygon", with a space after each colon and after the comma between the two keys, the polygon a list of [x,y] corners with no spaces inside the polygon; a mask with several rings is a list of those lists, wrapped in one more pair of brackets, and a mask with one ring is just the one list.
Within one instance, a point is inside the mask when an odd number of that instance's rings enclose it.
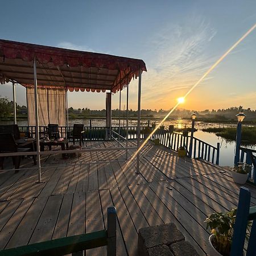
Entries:
{"label": "upright dark blue post in foreground, left of the stone blocks", "polygon": [[108,246],[107,256],[117,254],[117,210],[115,207],[108,208]]}

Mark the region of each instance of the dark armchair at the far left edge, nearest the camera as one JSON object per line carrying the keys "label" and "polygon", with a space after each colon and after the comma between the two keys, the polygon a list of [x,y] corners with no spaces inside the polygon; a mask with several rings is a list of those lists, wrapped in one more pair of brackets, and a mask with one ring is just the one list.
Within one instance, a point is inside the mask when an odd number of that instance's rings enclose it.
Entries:
{"label": "dark armchair at the far left edge, nearest the camera", "polygon": [[[33,148],[29,147],[31,146],[32,142],[26,142],[23,144],[18,144],[15,142],[14,135],[9,133],[1,133],[0,134],[0,153],[13,153],[13,152],[30,152],[33,151]],[[33,146],[33,143],[32,143]],[[3,168],[3,161],[5,157],[0,156],[0,167]],[[20,166],[20,159],[21,156],[13,156],[13,163],[15,166],[15,169],[19,169]],[[36,158],[35,155],[33,155],[34,164],[36,164]],[[16,170],[15,172],[18,172]]]}

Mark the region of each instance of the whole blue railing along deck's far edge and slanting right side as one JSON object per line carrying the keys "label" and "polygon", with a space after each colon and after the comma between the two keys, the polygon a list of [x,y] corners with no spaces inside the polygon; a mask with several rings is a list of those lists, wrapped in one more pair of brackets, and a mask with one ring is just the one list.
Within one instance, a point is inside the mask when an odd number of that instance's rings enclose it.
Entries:
{"label": "whole blue railing along deck's far edge and slanting right side", "polygon": [[[148,126],[141,126],[141,138],[146,136],[146,128]],[[35,126],[19,126],[21,131],[35,134]],[[59,126],[60,137],[65,138],[68,131],[71,131],[73,126]],[[120,129],[120,130],[119,130]],[[137,139],[137,126],[128,127],[128,139]],[[47,126],[39,126],[39,133],[46,133]],[[126,126],[112,126],[111,129],[105,126],[84,126],[84,140],[85,141],[102,141],[108,139],[116,139],[123,141],[126,138]],[[208,162],[218,164],[220,158],[220,143],[214,147],[207,142],[201,141],[195,137],[192,138],[187,134],[171,132],[164,129],[158,129],[150,138],[151,140],[159,139],[159,143],[163,146],[177,151],[179,147],[183,146],[187,150],[187,155],[192,158],[201,158]],[[192,143],[192,146],[190,146]],[[189,151],[190,148],[190,151]]]}

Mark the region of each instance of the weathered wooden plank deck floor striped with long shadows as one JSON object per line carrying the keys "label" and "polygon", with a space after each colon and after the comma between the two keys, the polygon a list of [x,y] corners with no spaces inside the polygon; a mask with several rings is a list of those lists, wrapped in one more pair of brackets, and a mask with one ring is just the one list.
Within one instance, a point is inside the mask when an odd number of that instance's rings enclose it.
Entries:
{"label": "weathered wooden plank deck floor striped with long shadows", "polygon": [[[133,144],[133,141],[130,142]],[[114,142],[87,142],[110,147]],[[116,146],[116,144],[115,144]],[[117,255],[135,255],[140,228],[174,222],[200,255],[209,252],[204,220],[214,210],[237,206],[239,186],[229,171],[147,144],[140,174],[123,152],[91,152],[80,158],[43,159],[43,183],[34,170],[0,172],[0,249],[27,245],[106,226],[106,209],[117,208]],[[112,161],[109,161],[112,160]],[[24,162],[32,167],[32,161]],[[256,189],[251,204],[256,204]],[[86,255],[106,255],[104,247]]]}

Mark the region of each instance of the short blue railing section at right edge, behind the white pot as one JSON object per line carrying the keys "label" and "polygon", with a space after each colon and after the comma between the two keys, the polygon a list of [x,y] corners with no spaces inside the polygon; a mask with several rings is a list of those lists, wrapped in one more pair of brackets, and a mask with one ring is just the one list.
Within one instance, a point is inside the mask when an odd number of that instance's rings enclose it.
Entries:
{"label": "short blue railing section at right edge, behind the white pot", "polygon": [[251,170],[249,173],[249,183],[256,185],[255,173],[256,173],[256,150],[246,147],[240,147],[240,162],[251,164]]}

